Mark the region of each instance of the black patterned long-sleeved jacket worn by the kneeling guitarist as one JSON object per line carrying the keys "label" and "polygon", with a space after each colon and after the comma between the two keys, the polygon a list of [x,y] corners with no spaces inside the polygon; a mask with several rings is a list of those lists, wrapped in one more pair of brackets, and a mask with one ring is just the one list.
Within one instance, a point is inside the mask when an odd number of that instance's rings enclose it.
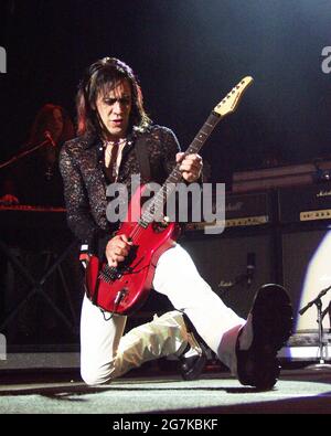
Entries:
{"label": "black patterned long-sleeved jacket worn by the kneeling guitarist", "polygon": [[[160,184],[172,171],[175,153],[180,151],[177,137],[166,127],[154,125],[145,134],[132,135],[122,150],[117,179],[118,183],[127,185],[128,192],[130,192],[131,174],[140,174],[135,150],[138,135],[143,135],[146,138],[151,180]],[[67,141],[60,155],[68,226],[82,243],[87,243],[89,249],[98,255],[104,249],[105,238],[109,240],[117,228],[117,225],[110,224],[106,217],[107,180],[103,161],[102,141],[90,135]]]}

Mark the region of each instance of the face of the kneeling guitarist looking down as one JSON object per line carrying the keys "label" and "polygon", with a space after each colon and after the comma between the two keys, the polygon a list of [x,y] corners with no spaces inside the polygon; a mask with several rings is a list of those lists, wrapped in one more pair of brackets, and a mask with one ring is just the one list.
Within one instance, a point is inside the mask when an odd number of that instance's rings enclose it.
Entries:
{"label": "face of the kneeling guitarist looking down", "polygon": [[131,87],[126,79],[118,82],[108,93],[99,93],[96,109],[108,140],[126,137],[131,106]]}

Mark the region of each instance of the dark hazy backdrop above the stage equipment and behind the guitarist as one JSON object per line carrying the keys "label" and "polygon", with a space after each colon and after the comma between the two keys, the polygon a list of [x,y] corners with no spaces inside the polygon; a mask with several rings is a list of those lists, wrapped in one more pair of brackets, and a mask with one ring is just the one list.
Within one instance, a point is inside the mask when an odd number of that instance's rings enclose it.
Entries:
{"label": "dark hazy backdrop above the stage equipment and behind the guitarist", "polygon": [[213,180],[270,156],[281,164],[331,156],[331,74],[321,70],[330,0],[2,0],[0,45],[1,161],[44,103],[74,118],[83,71],[106,55],[134,67],[149,115],[183,149],[243,76],[255,78],[203,149]]}

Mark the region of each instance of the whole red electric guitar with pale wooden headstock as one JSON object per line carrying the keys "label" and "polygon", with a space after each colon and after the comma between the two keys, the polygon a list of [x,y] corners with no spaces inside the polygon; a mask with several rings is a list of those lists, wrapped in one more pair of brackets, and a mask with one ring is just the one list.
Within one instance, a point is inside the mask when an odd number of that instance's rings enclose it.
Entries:
{"label": "whole red electric guitar with pale wooden headstock", "polygon": [[[195,136],[185,155],[196,153],[214,127],[226,115],[232,114],[253,78],[244,77],[221,103]],[[163,206],[182,180],[180,163],[175,166],[148,206],[141,209],[141,195],[146,185],[141,185],[132,195],[128,214],[117,234],[126,234],[132,245],[129,255],[117,267],[109,267],[96,256],[90,256],[86,268],[86,293],[88,298],[102,309],[119,315],[130,315],[146,300],[152,285],[154,268],[160,255],[174,245],[179,236],[179,225],[161,221]]]}

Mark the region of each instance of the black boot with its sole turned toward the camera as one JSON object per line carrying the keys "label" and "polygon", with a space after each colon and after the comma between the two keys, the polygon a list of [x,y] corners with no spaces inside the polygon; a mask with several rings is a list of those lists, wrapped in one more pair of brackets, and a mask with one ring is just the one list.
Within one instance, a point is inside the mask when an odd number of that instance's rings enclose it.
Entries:
{"label": "black boot with its sole turned toward the camera", "polygon": [[[253,341],[247,350],[242,350],[239,338],[249,327]],[[242,384],[259,390],[269,390],[276,384],[280,373],[277,351],[290,337],[291,329],[292,308],[287,291],[279,285],[264,285],[256,293],[247,325],[236,344],[237,374]]]}

